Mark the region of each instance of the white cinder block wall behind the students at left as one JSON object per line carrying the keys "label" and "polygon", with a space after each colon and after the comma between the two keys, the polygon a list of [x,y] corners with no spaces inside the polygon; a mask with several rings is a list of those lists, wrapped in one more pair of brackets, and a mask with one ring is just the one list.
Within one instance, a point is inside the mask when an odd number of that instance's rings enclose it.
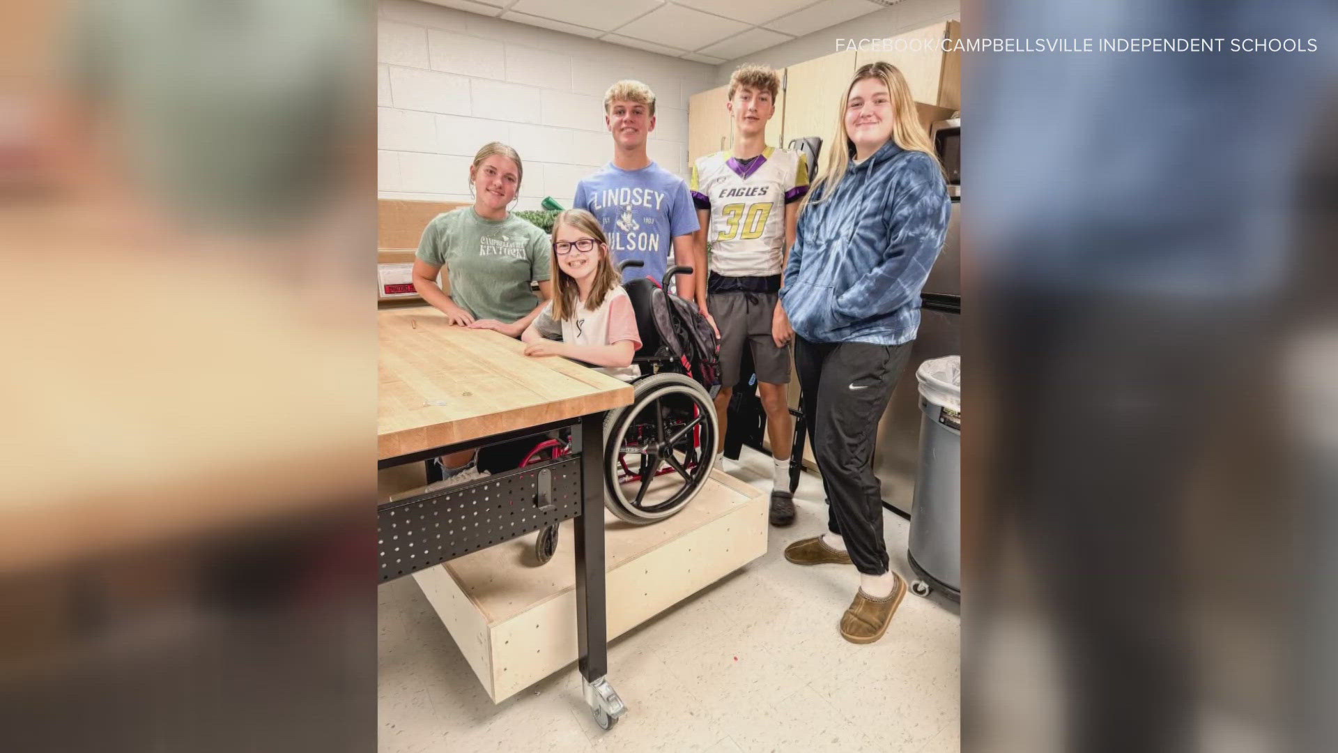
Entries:
{"label": "white cinder block wall behind the students at left", "polygon": [[520,153],[516,209],[571,206],[609,162],[603,92],[622,78],[657,96],[650,158],[688,177],[688,96],[717,68],[583,36],[420,3],[380,0],[377,186],[383,198],[470,201],[468,167],[490,141]]}

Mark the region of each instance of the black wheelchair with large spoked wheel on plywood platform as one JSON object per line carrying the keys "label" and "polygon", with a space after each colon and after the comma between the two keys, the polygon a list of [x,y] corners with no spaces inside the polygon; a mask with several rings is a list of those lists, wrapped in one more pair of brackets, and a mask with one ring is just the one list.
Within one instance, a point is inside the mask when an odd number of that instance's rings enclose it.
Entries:
{"label": "black wheelchair with large spoked wheel on plywood platform", "polygon": [[[618,271],[642,265],[629,260]],[[603,484],[605,506],[634,525],[681,512],[705,486],[716,461],[719,386],[706,387],[690,375],[686,355],[674,347],[677,338],[661,331],[666,322],[672,330],[673,318],[682,314],[666,300],[656,300],[673,295],[668,291],[676,275],[690,273],[690,267],[672,267],[658,285],[649,277],[624,284],[641,335],[641,348],[632,359],[641,376],[632,382],[632,405],[610,410],[603,421]],[[524,456],[520,466],[561,458],[569,442],[570,437],[546,439]],[[557,547],[558,527],[541,531],[534,545],[538,563],[553,559]]]}

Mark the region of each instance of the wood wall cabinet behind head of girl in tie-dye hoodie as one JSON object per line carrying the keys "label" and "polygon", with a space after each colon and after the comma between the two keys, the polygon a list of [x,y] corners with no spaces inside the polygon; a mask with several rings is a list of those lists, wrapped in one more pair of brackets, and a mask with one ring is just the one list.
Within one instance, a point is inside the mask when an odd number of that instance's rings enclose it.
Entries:
{"label": "wood wall cabinet behind head of girl in tie-dye hoodie", "polygon": [[890,36],[876,50],[856,52],[855,67],[886,60],[906,76],[915,102],[962,109],[962,54],[943,52],[943,40],[962,35],[961,21],[937,24]]}

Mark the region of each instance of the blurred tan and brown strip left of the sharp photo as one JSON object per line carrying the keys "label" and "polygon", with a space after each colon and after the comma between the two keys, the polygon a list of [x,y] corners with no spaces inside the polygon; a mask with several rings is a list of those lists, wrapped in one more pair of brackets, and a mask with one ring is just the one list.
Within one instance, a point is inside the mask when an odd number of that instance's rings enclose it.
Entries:
{"label": "blurred tan and brown strip left of the sharp photo", "polygon": [[7,750],[375,748],[372,15],[0,11]]}

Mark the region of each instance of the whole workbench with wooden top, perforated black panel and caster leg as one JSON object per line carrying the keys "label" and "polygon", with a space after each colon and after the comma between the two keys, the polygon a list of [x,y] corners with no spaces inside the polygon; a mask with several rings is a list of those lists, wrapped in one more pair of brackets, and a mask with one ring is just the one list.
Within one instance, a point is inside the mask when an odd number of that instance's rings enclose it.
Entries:
{"label": "whole workbench with wooden top, perforated black panel and caster leg", "polygon": [[[490,330],[452,327],[431,307],[380,319],[377,466],[391,468],[537,430],[571,430],[570,454],[377,506],[381,580],[574,519],[577,654],[586,703],[609,729],[625,707],[609,685],[603,418],[630,385],[558,356],[531,358]],[[428,469],[428,480],[435,473]],[[490,689],[491,690],[491,689]]]}

